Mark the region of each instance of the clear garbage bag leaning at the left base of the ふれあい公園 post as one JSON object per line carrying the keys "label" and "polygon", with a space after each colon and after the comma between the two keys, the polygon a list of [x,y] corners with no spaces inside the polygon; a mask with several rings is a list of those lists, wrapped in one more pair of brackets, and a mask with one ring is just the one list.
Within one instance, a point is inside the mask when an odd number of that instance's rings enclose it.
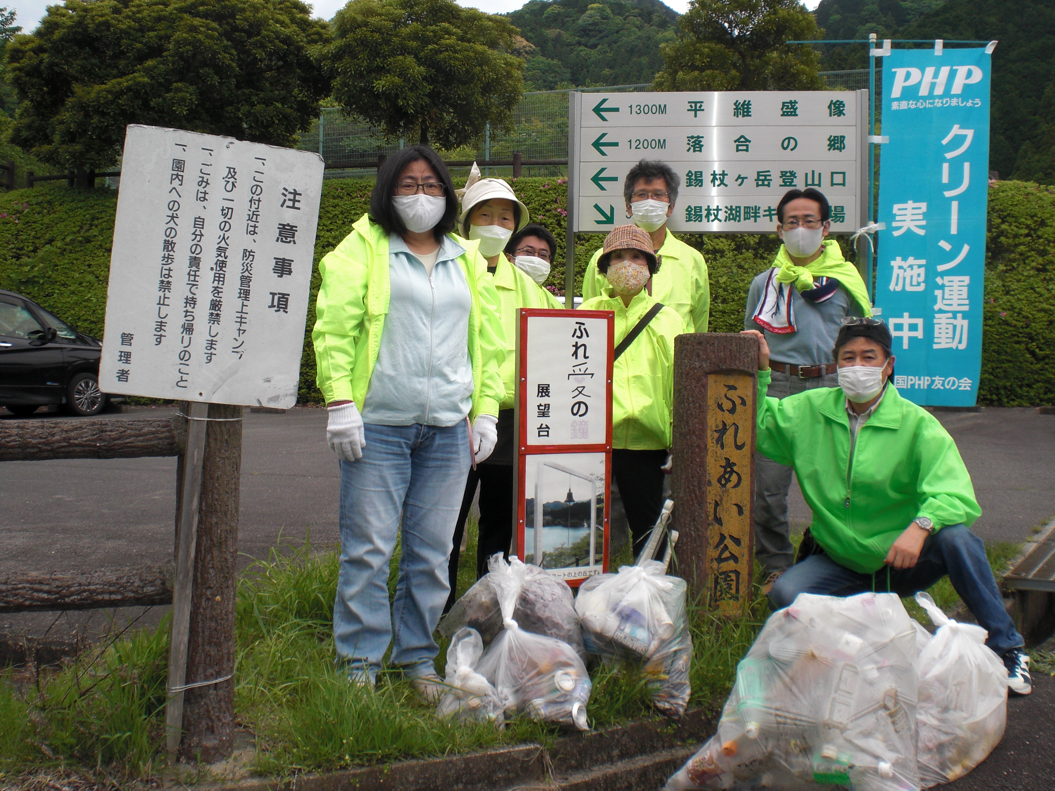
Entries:
{"label": "clear garbage bag leaning at the left base of the \u3075\u308c\u3042\u3044\u516c\u5712 post", "polygon": [[606,661],[645,660],[653,705],[674,718],[685,713],[691,693],[685,601],[685,580],[665,575],[657,560],[591,577],[575,600],[587,650]]}

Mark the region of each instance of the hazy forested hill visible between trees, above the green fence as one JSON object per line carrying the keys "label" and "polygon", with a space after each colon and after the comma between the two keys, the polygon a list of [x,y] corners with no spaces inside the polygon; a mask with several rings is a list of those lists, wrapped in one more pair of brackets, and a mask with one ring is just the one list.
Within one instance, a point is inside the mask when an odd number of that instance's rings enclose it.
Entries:
{"label": "hazy forested hill visible between trees, above the green fence", "polygon": [[528,90],[549,91],[652,82],[677,13],[659,0],[531,0],[509,18],[531,44],[519,53]]}

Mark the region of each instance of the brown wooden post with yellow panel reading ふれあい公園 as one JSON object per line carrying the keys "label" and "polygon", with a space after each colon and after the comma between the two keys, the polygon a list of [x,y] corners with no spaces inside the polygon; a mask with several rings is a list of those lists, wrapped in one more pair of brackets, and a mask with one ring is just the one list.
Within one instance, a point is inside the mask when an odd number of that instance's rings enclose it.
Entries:
{"label": "brown wooden post with yellow panel reading \u3075\u308c\u3042\u3044\u516c\u5712", "polygon": [[757,360],[749,335],[674,341],[676,573],[724,612],[751,598]]}

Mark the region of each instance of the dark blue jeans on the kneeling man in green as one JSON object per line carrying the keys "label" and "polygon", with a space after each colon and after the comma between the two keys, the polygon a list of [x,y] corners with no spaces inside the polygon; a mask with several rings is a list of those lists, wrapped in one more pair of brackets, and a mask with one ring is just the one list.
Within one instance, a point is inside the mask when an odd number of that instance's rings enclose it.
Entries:
{"label": "dark blue jeans on the kneeling man in green", "polygon": [[[889,576],[887,576],[889,572]],[[1003,607],[1003,599],[985,558],[985,544],[962,524],[942,527],[923,543],[919,560],[912,568],[884,566],[875,574],[839,565],[827,555],[810,555],[788,568],[773,584],[769,601],[776,610],[788,606],[801,593],[822,596],[853,596],[867,591],[914,596],[945,575],[956,593],[989,632],[985,644],[999,655],[1022,648],[1022,636]]]}

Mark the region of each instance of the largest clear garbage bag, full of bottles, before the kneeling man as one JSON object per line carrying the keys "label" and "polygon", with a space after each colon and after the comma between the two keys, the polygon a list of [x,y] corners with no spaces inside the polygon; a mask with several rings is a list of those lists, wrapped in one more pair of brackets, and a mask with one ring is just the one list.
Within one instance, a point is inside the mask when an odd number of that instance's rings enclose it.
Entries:
{"label": "largest clear garbage bag, full of bottles, before the kneeling man", "polygon": [[800,594],[736,668],[717,733],[667,789],[919,788],[916,630],[895,594]]}

